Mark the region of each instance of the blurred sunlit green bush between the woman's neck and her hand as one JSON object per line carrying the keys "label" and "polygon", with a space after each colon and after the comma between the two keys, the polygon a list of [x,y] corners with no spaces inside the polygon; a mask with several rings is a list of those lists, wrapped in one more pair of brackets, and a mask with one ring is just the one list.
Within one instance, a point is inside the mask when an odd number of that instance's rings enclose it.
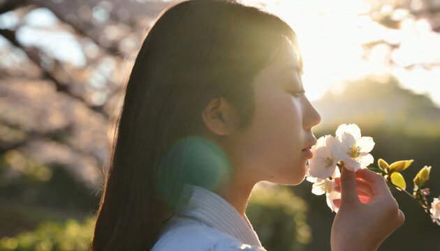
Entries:
{"label": "blurred sunlit green bush between the woman's neck and her hand", "polygon": [[267,250],[305,250],[311,242],[309,206],[286,185],[254,188],[246,214]]}

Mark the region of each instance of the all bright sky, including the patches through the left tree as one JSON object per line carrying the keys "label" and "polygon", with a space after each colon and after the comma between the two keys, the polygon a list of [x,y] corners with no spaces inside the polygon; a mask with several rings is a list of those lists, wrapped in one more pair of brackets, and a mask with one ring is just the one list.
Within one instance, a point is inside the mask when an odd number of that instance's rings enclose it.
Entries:
{"label": "all bright sky, including the patches through the left tree", "polygon": [[[427,20],[415,20],[406,10],[384,6],[381,13],[403,20],[400,29],[388,29],[363,15],[369,11],[369,5],[363,0],[241,2],[279,15],[297,33],[304,58],[303,82],[310,100],[318,100],[328,90],[341,93],[346,79],[374,75],[386,82],[393,75],[402,87],[430,96],[440,107],[440,35],[432,32]],[[102,9],[94,10],[94,18],[105,18]],[[0,28],[9,28],[18,22],[13,13],[0,16]],[[57,17],[49,10],[32,10],[24,22],[27,25],[17,30],[17,38],[24,45],[43,47],[58,60],[70,61],[75,66],[87,63],[80,43],[70,33],[41,29],[57,23]],[[381,39],[401,45],[397,50],[378,45],[367,58],[362,57],[365,54],[362,44]],[[390,58],[395,64],[388,63]],[[430,70],[421,66],[405,68],[414,63],[437,63],[437,66]]]}

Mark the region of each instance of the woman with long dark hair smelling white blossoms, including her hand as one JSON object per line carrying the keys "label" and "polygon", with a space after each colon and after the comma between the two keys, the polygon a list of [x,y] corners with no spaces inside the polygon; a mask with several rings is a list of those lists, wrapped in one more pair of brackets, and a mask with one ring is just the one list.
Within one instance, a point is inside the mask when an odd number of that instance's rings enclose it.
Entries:
{"label": "woman with long dark hair smelling white blossoms, including her hand", "polygon": [[[320,121],[283,20],[233,0],[169,6],[126,85],[93,250],[264,250],[247,199],[258,181],[304,179]],[[367,169],[340,183],[332,250],[376,250],[402,211]]]}

